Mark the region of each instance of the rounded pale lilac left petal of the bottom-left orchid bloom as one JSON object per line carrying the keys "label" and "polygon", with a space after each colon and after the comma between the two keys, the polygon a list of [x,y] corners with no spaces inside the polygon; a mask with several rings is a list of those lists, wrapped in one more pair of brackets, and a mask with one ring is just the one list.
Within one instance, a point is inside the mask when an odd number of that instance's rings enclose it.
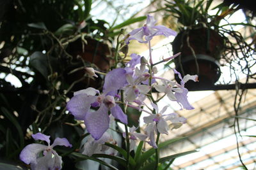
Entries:
{"label": "rounded pale lilac left petal of the bottom-left orchid bloom", "polygon": [[22,160],[26,164],[35,163],[38,153],[42,152],[45,149],[47,149],[47,146],[45,145],[37,143],[30,144],[23,148],[23,150],[21,151],[20,160]]}

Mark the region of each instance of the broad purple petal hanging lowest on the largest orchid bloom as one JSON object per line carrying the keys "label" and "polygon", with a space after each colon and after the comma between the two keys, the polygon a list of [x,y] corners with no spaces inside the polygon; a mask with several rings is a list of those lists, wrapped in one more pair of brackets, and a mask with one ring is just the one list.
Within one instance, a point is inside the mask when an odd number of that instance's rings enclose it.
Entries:
{"label": "broad purple petal hanging lowest on the largest orchid bloom", "polygon": [[88,112],[84,118],[84,124],[95,140],[100,139],[109,128],[108,108],[102,104],[99,110]]}

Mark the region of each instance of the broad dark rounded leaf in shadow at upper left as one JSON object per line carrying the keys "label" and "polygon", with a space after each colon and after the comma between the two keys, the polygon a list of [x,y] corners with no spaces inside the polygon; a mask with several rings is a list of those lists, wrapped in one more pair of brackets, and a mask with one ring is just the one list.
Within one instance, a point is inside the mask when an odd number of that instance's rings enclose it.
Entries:
{"label": "broad dark rounded leaf in shadow at upper left", "polygon": [[34,52],[29,58],[29,63],[33,68],[39,71],[44,78],[47,80],[48,76],[48,63],[47,63],[47,55],[42,52]]}

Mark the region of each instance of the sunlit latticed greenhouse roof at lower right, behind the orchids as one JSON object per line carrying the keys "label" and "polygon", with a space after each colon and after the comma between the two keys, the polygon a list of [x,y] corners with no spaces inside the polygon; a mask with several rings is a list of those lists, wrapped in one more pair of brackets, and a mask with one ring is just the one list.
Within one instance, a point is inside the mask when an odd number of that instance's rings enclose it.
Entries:
{"label": "sunlit latticed greenhouse roof at lower right, behind the orchids", "polygon": [[[188,119],[187,124],[173,130],[168,136],[162,135],[161,141],[185,136],[161,152],[161,157],[198,150],[196,153],[180,157],[173,164],[173,169],[235,169],[241,166],[237,153],[234,134],[234,99],[235,90],[218,90],[192,105],[195,110],[177,111]],[[256,168],[256,89],[246,92],[239,110],[239,129],[237,134],[239,152],[248,169]],[[252,118],[248,120],[244,118]],[[236,125],[237,131],[237,125]]]}

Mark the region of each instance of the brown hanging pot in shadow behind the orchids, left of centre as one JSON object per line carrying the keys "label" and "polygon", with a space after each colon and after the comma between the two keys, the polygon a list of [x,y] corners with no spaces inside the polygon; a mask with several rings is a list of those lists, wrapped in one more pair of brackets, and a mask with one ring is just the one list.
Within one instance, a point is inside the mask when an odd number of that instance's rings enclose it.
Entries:
{"label": "brown hanging pot in shadow behind the orchids, left of centre", "polygon": [[[77,39],[67,47],[67,52],[72,55],[72,60],[65,71],[65,80],[71,85],[75,81],[83,79],[74,85],[73,91],[86,89],[87,87],[100,89],[103,83],[102,77],[84,77],[85,69],[77,68],[84,67],[84,64],[86,67],[92,67],[93,64],[97,71],[107,72],[111,66],[111,59],[109,58],[111,49],[109,46],[91,38],[86,38],[86,41],[87,43],[84,43],[82,39]],[[74,72],[69,74],[70,71]]]}

